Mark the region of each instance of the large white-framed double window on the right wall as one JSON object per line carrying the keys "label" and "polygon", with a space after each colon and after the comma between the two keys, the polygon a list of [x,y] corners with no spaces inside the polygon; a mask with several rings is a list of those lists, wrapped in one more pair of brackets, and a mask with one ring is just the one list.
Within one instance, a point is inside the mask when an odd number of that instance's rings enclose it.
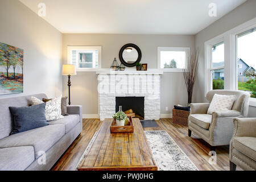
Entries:
{"label": "large white-framed double window on the right wall", "polygon": [[[223,44],[221,44],[223,43]],[[221,51],[222,50],[222,51]],[[216,81],[227,90],[244,90],[251,96],[250,106],[256,106],[256,18],[205,42],[205,96]],[[217,57],[224,57],[224,64]],[[221,52],[225,52],[224,55]],[[222,78],[223,77],[223,78]]]}

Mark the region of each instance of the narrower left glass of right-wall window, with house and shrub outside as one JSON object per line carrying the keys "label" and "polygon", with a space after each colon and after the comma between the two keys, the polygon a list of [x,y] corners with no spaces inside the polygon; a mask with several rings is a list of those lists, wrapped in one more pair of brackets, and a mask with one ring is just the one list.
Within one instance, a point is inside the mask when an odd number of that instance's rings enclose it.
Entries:
{"label": "narrower left glass of right-wall window, with house and shrub outside", "polygon": [[212,46],[210,78],[213,90],[224,89],[224,42]]}

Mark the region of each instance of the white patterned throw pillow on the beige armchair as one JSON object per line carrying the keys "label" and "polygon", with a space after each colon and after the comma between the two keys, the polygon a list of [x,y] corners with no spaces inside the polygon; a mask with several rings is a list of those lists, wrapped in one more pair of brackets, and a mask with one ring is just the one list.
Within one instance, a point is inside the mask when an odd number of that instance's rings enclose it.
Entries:
{"label": "white patterned throw pillow on the beige armchair", "polygon": [[214,111],[231,110],[236,96],[225,96],[214,94],[212,102],[210,102],[207,114],[212,114]]}

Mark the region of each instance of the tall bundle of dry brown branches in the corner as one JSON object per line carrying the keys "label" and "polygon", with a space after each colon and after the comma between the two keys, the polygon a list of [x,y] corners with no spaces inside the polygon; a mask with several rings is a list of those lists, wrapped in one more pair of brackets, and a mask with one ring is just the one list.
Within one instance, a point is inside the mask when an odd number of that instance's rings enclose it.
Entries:
{"label": "tall bundle of dry brown branches in the corner", "polygon": [[183,76],[188,92],[188,105],[192,102],[193,88],[199,67],[199,53],[199,48],[196,48],[195,53],[187,55],[187,65],[183,69]]}

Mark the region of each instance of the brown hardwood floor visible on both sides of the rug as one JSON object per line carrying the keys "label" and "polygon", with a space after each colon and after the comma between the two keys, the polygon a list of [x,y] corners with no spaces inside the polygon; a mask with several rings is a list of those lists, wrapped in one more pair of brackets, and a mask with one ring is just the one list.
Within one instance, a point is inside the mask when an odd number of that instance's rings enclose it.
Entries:
{"label": "brown hardwood floor visible on both sides of the rug", "polygon": [[[92,139],[94,133],[100,129],[102,121],[99,119],[84,119],[83,131],[72,143],[65,154],[59,159],[52,170],[74,170],[85,148]],[[188,137],[188,129],[172,123],[172,119],[160,119],[159,127],[144,128],[144,130],[165,130],[188,155],[199,170],[203,171],[226,171],[229,170],[229,146],[216,147],[217,164],[210,164],[210,146],[204,140],[193,135]],[[241,170],[237,167],[237,170]]]}

